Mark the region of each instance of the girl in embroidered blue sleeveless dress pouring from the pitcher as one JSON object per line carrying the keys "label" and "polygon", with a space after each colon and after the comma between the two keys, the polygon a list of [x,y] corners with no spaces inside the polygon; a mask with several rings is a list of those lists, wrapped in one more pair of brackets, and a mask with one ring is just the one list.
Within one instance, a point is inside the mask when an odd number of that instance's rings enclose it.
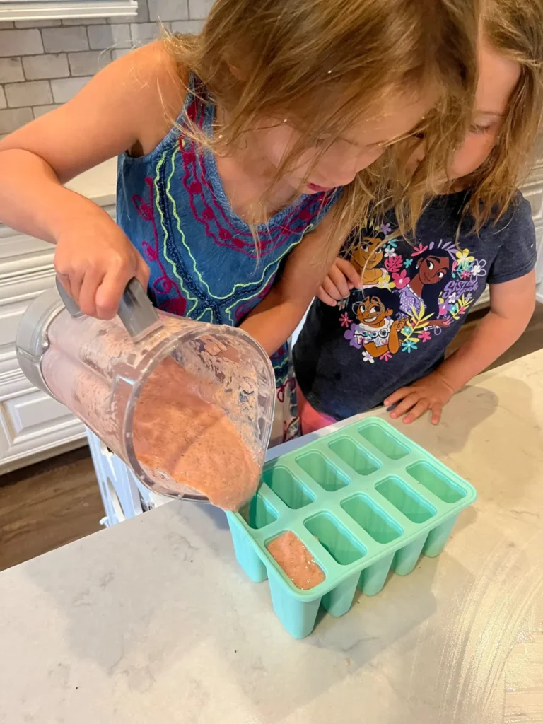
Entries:
{"label": "girl in embroidered blue sleeveless dress pouring from the pitcher", "polygon": [[[287,415],[274,437],[289,437],[282,345],[363,216],[373,180],[362,169],[435,104],[436,123],[461,115],[474,4],[219,0],[201,35],[119,59],[2,141],[0,218],[56,243],[62,284],[104,319],[135,276],[166,311],[240,324],[282,269],[269,309],[248,324],[266,350],[280,348]],[[62,187],[118,154],[119,225]]]}

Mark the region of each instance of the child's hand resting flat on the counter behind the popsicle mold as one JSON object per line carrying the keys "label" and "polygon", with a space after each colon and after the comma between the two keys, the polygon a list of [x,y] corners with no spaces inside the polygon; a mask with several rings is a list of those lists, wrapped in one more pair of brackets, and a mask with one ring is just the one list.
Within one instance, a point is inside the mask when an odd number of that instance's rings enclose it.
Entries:
{"label": "child's hand resting flat on the counter behind the popsicle mold", "polygon": [[384,404],[387,407],[397,405],[390,413],[393,419],[407,413],[403,418],[406,425],[411,424],[426,410],[431,410],[432,424],[437,425],[441,419],[443,405],[446,405],[454,394],[455,390],[445,377],[439,371],[435,371],[419,379],[418,382],[397,390],[384,400]]}

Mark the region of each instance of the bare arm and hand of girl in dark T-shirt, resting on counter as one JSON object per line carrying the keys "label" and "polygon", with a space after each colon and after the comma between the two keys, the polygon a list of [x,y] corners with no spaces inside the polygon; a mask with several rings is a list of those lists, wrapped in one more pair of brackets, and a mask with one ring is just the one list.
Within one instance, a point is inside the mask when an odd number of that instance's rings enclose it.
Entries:
{"label": "bare arm and hand of girl in dark T-shirt, resting on counter", "polygon": [[410,424],[431,410],[432,424],[437,425],[443,405],[452,395],[487,369],[521,336],[534,313],[535,288],[534,271],[511,282],[491,285],[490,311],[468,341],[436,371],[384,400],[387,406],[397,404],[390,416],[405,415],[403,421]]}

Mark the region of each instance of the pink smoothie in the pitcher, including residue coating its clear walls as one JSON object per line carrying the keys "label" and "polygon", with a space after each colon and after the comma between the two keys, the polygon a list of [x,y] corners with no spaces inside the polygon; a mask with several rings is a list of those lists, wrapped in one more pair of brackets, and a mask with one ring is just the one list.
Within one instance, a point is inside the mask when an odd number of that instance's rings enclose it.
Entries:
{"label": "pink smoothie in the pitcher, including residue coating its clear walls", "polygon": [[[129,464],[125,418],[132,387],[122,379],[132,379],[133,370],[152,357],[149,350],[195,325],[161,319],[163,329],[138,345],[118,320],[61,315],[49,330],[43,374],[51,391]],[[266,395],[266,366],[244,354],[243,343],[227,340],[220,329],[197,335],[183,340],[175,358],[161,361],[143,384],[132,440],[158,492],[199,493],[224,510],[237,510],[256,492],[264,460],[258,400]]]}

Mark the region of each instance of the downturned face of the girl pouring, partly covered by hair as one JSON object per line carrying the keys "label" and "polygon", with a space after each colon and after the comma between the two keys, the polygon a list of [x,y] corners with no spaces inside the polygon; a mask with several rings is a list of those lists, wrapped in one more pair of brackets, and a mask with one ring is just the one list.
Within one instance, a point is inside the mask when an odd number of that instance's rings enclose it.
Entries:
{"label": "downturned face of the girl pouring, partly covered by hair", "polygon": [[[286,180],[297,190],[303,185],[302,193],[319,193],[349,184],[359,171],[381,156],[387,144],[408,133],[432,107],[433,101],[430,92],[416,98],[396,96],[382,104],[370,118],[361,119],[345,138],[334,140],[331,145],[323,138],[322,146],[329,145],[324,153],[319,143],[308,149],[297,160],[295,168],[287,172]],[[277,168],[297,140],[298,132],[288,122],[276,122],[261,136],[261,150]],[[311,169],[319,153],[321,156]],[[304,184],[306,176],[308,182]]]}

